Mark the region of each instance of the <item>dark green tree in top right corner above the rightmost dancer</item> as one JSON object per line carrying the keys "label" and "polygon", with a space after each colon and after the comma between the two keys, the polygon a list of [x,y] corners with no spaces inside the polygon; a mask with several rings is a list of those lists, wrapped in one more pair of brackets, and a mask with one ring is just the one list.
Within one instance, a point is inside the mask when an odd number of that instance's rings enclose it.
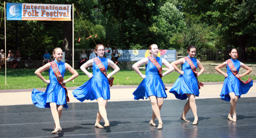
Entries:
{"label": "dark green tree in top right corner above the rightmost dancer", "polygon": [[207,12],[216,26],[221,26],[219,34],[225,39],[225,47],[231,45],[242,49],[240,56],[244,56],[245,48],[255,45],[256,39],[256,3],[254,0],[228,1],[218,0]]}

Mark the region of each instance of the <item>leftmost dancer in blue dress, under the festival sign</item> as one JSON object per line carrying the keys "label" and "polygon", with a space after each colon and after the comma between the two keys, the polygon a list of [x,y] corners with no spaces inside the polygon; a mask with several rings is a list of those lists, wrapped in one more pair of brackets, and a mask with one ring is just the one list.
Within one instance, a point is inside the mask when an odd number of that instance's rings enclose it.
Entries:
{"label": "leftmost dancer in blue dress, under the festival sign", "polygon": [[[53,50],[53,57],[55,57],[55,60],[52,63],[48,62],[46,65],[35,71],[36,76],[38,76],[44,82],[48,83],[46,91],[44,92],[34,89],[32,91],[31,98],[36,107],[51,108],[53,120],[55,122],[55,126],[52,131],[54,134],[61,132],[62,129],[60,127],[60,117],[62,114],[63,106],[65,108],[68,107],[64,84],[72,81],[77,76],[79,76],[79,74],[69,64],[60,61],[63,58],[63,52],[61,48],[55,48]],[[59,77],[63,78],[66,70],[69,70],[69,72],[72,73],[72,76],[67,80],[62,79],[62,82],[59,82],[55,76],[55,70],[53,70],[52,64],[56,65],[56,68],[59,69],[59,73],[62,76]],[[46,80],[41,74],[45,70],[49,70],[49,80]]]}

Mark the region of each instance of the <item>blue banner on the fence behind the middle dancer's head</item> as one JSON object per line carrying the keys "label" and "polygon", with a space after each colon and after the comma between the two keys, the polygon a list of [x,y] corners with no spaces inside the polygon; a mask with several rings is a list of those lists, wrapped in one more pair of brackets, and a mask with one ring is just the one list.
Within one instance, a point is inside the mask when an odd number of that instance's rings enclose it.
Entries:
{"label": "blue banner on the fence behind the middle dancer's head", "polygon": [[[121,57],[118,61],[139,61],[144,57],[150,56],[149,50],[119,50]],[[176,60],[176,50],[159,50],[158,57],[163,57],[167,61]]]}

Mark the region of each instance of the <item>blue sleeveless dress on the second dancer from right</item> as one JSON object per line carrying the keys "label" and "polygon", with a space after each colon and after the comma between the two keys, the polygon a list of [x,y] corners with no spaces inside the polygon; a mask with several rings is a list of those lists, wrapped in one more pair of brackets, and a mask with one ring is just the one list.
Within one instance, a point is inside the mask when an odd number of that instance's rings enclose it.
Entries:
{"label": "blue sleeveless dress on the second dancer from right", "polygon": [[[189,57],[189,56],[188,56]],[[197,60],[194,57],[189,57],[193,64],[197,68]],[[197,78],[195,73],[192,71],[191,66],[188,64],[187,61],[181,65],[181,69],[184,72],[183,75],[180,75],[179,78],[175,81],[172,89],[169,91],[173,93],[177,99],[187,99],[186,94],[194,94],[199,97],[199,87]]]}

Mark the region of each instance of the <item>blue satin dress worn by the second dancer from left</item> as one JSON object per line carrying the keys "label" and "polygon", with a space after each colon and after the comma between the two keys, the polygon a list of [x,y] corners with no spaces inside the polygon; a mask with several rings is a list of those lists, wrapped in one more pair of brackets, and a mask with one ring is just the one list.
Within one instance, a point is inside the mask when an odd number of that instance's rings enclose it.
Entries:
{"label": "blue satin dress worn by the second dancer from left", "polygon": [[[100,58],[100,57],[98,57]],[[108,69],[108,58],[100,58],[106,71]],[[73,90],[73,95],[80,102],[94,100],[98,98],[110,99],[110,87],[108,78],[101,72],[98,65],[93,61],[93,77],[86,81],[82,86]]]}

